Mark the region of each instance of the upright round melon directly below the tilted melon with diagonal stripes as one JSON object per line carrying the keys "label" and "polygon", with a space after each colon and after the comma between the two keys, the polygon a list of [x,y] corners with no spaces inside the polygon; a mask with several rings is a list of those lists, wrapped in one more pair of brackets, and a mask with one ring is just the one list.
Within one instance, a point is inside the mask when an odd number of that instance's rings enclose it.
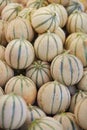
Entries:
{"label": "upright round melon directly below the tilted melon with diagonal stripes", "polygon": [[55,33],[43,33],[35,40],[34,49],[40,60],[52,61],[55,56],[63,52],[63,43]]}

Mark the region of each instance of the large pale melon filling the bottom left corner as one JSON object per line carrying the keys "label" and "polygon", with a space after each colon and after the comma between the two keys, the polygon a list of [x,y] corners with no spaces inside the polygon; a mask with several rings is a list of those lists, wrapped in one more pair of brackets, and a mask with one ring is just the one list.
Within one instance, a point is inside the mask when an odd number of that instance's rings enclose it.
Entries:
{"label": "large pale melon filling the bottom left corner", "polygon": [[[14,107],[13,104],[15,104]],[[13,122],[12,122],[12,116],[14,118]],[[11,129],[17,129],[24,124],[26,117],[27,117],[27,106],[25,101],[20,96],[14,94],[9,95],[6,94],[0,97],[1,128],[10,129],[11,126]],[[2,118],[4,118],[4,121]]]}

